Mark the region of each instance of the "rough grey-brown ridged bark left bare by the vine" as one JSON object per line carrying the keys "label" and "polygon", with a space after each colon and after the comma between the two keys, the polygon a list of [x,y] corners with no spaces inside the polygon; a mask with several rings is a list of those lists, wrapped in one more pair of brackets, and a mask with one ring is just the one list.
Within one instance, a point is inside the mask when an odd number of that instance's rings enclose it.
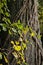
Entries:
{"label": "rough grey-brown ridged bark left bare by the vine", "polygon": [[[11,15],[13,17],[12,18],[13,21],[17,21],[18,19],[20,19],[23,24],[32,27],[32,29],[37,33],[37,35],[40,35],[40,29],[39,29],[40,27],[39,27],[38,14],[37,14],[37,0],[23,0],[22,5],[21,5],[21,1],[17,0],[16,4],[17,4],[16,5],[17,8],[14,8],[13,5],[13,11],[12,8],[10,9],[12,11]],[[14,13],[17,14],[14,15]],[[34,38],[29,38],[29,41],[32,44],[27,45],[27,50],[25,51],[26,62],[28,63],[28,65],[42,65],[43,49],[42,49],[41,40],[37,39],[37,37],[34,37]]]}

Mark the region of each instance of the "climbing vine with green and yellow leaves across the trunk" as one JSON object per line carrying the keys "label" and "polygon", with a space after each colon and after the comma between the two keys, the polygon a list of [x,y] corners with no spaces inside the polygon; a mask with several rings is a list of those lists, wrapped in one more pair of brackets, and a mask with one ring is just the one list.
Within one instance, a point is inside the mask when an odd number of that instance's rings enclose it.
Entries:
{"label": "climbing vine with green and yellow leaves across the trunk", "polygon": [[[7,41],[5,40],[4,47],[0,48],[0,60],[5,60],[5,63],[9,64],[9,55],[12,54],[16,59],[16,65],[27,65],[25,59],[25,50],[27,49],[27,44],[30,43],[29,39],[26,38],[27,33],[29,33],[30,38],[37,36],[41,38],[37,33],[28,25],[23,25],[20,20],[11,23],[10,11],[7,7],[7,0],[1,0],[0,2],[0,32],[8,32]],[[10,40],[9,40],[10,39]],[[9,44],[10,48],[6,49],[6,45]],[[2,63],[0,65],[3,65]],[[13,65],[13,64],[12,64]]]}

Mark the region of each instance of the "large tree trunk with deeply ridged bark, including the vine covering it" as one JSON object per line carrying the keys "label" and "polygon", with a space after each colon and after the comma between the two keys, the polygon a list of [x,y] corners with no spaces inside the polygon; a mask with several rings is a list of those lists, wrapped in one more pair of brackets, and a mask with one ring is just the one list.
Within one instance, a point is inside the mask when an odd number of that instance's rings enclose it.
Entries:
{"label": "large tree trunk with deeply ridged bark, including the vine covering it", "polygon": [[42,46],[37,0],[2,0],[0,6],[0,33],[6,34],[5,40],[0,39],[0,63],[4,59],[6,65],[39,65]]}

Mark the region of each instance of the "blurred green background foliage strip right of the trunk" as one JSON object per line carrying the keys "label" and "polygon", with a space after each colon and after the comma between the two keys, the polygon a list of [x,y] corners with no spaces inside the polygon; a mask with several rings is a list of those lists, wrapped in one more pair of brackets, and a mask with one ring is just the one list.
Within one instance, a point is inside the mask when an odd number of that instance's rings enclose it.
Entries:
{"label": "blurred green background foliage strip right of the trunk", "polygon": [[39,13],[40,30],[42,35],[41,40],[43,43],[43,1],[42,0],[39,0],[38,13]]}

